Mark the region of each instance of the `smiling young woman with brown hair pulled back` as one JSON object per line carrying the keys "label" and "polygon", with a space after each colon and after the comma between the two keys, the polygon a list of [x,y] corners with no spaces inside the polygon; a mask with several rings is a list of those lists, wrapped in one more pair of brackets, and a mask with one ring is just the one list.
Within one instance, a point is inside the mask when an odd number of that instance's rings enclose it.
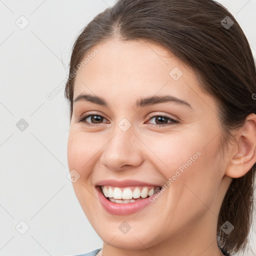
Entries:
{"label": "smiling young woman with brown hair pulled back", "polygon": [[253,207],[256,72],[212,0],[119,0],[77,37],[65,96],[75,194],[102,248],[232,255]]}

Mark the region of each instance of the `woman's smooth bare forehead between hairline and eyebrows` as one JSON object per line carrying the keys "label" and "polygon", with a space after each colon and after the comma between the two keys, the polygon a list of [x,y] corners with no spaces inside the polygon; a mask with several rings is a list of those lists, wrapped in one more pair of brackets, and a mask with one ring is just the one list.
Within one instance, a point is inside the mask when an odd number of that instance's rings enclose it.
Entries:
{"label": "woman's smooth bare forehead between hairline and eyebrows", "polygon": [[[95,49],[98,53],[90,55]],[[73,98],[89,92],[124,103],[152,94],[188,99],[191,93],[202,93],[193,70],[159,43],[113,38],[95,45],[86,56],[88,61],[75,77]]]}

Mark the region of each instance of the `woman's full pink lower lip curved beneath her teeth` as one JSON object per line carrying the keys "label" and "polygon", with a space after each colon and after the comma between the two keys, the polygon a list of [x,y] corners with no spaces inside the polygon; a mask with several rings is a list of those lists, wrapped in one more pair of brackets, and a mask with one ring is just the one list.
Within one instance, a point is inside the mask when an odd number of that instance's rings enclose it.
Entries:
{"label": "woman's full pink lower lip curved beneath her teeth", "polygon": [[128,203],[116,203],[111,202],[103,195],[101,188],[99,186],[96,186],[96,190],[98,193],[99,200],[103,207],[111,214],[114,215],[128,215],[132,214],[136,211],[139,211],[143,209],[146,205],[149,203],[152,203],[154,201],[150,201],[151,198],[153,198],[153,195],[146,197],[141,200],[137,200],[135,202],[128,202]]}

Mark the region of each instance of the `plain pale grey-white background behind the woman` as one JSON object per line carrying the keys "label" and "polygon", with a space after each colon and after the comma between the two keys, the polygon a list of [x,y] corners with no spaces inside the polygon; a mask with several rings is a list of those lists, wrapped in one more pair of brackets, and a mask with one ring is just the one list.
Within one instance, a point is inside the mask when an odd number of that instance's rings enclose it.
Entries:
{"label": "plain pale grey-white background behind the woman", "polygon": [[[0,0],[1,256],[72,255],[102,246],[66,176],[64,89],[50,100],[46,95],[68,74],[80,30],[114,2]],[[256,57],[256,0],[219,2],[235,16]],[[253,233],[255,253],[248,256],[256,255],[255,241]]]}

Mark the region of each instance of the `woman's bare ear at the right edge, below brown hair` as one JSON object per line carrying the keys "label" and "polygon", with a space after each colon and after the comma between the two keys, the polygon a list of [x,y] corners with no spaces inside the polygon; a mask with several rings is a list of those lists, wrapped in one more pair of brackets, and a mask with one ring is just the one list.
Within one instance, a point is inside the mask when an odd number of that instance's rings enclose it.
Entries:
{"label": "woman's bare ear at the right edge, below brown hair", "polygon": [[246,117],[239,128],[237,141],[232,145],[225,171],[225,175],[232,178],[245,175],[256,162],[256,114]]}

